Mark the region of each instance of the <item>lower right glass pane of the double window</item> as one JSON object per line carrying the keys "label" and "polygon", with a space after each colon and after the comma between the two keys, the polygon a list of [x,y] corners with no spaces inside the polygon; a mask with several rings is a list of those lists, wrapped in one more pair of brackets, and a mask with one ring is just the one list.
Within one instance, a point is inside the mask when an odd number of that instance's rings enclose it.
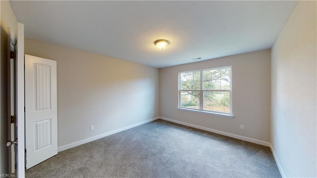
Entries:
{"label": "lower right glass pane of the double window", "polygon": [[230,92],[204,91],[204,110],[230,113]]}

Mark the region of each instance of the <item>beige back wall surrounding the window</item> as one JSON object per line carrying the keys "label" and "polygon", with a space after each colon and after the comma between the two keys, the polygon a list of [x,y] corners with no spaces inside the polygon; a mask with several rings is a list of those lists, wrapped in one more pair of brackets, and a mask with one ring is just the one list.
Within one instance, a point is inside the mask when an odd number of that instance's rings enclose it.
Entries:
{"label": "beige back wall surrounding the window", "polygon": [[[232,66],[234,118],[177,110],[178,72]],[[270,141],[270,50],[160,69],[160,115],[198,126]],[[240,129],[244,124],[245,129]]]}

